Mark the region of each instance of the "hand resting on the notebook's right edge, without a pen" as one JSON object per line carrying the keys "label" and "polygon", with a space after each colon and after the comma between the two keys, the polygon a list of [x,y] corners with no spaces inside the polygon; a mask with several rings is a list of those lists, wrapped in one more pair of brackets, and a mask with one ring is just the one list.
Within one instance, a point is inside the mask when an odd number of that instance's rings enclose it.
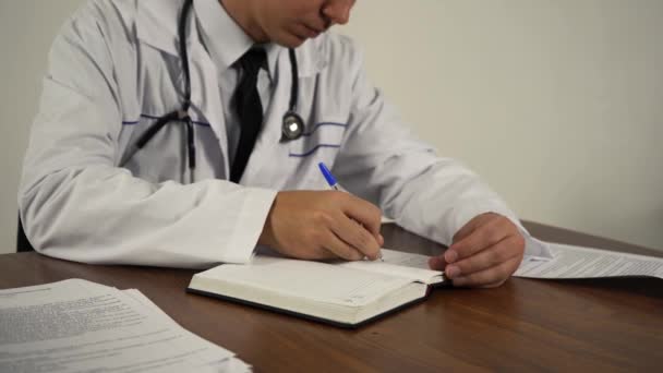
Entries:
{"label": "hand resting on the notebook's right edge, without a pen", "polygon": [[481,214],[455,236],[449,249],[429,261],[431,268],[444,270],[458,287],[494,288],[506,281],[520,265],[525,238],[508,218]]}

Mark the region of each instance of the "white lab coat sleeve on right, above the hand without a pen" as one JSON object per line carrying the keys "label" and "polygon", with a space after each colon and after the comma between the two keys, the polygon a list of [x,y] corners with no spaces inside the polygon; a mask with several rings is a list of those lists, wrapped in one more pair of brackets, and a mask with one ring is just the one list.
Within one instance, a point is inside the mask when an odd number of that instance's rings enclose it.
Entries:
{"label": "white lab coat sleeve on right, above the hand without a pen", "polygon": [[[470,169],[436,155],[418,140],[374,88],[361,55],[350,44],[352,109],[334,171],[351,192],[377,203],[401,227],[443,244],[470,219],[497,213],[515,222],[526,237],[526,254],[550,257],[516,214]],[[370,185],[370,188],[366,188]]]}

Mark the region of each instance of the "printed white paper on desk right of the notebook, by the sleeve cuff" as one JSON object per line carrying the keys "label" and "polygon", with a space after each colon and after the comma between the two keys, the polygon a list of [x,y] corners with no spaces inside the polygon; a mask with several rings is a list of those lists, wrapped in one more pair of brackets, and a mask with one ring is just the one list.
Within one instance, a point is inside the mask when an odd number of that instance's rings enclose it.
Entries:
{"label": "printed white paper on desk right of the notebook, by the sleeve cuff", "polygon": [[598,278],[648,276],[663,278],[663,258],[551,243],[553,260],[525,258],[516,277]]}

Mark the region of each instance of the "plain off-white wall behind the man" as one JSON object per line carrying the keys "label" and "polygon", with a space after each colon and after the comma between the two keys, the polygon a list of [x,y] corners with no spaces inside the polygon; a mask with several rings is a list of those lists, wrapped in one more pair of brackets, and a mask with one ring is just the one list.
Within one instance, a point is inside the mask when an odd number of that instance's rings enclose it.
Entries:
{"label": "plain off-white wall behind the man", "polygon": [[[82,2],[0,0],[0,252],[46,53]],[[341,32],[522,218],[663,250],[663,1],[359,0]]]}

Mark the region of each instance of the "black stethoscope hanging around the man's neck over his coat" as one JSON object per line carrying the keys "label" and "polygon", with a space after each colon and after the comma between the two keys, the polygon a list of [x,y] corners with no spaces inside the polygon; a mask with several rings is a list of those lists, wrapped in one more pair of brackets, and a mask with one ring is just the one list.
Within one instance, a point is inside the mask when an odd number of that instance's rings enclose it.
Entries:
{"label": "black stethoscope hanging around the man's neck over his coat", "polygon": [[[193,180],[193,170],[195,169],[195,141],[194,125],[189,109],[191,108],[191,74],[189,70],[189,52],[186,50],[186,20],[191,13],[193,0],[184,1],[182,13],[178,22],[179,49],[182,59],[182,69],[184,70],[184,100],[180,109],[169,112],[156,120],[147,130],[138,137],[133,146],[124,153],[120,161],[120,166],[124,166],[140,149],[169,122],[184,122],[186,125],[186,152],[189,157],[189,169]],[[298,140],[304,133],[304,121],[297,113],[297,96],[299,95],[298,67],[294,49],[288,48],[290,57],[290,68],[292,71],[292,85],[290,86],[290,104],[288,110],[284,115],[281,123],[281,141]]]}

